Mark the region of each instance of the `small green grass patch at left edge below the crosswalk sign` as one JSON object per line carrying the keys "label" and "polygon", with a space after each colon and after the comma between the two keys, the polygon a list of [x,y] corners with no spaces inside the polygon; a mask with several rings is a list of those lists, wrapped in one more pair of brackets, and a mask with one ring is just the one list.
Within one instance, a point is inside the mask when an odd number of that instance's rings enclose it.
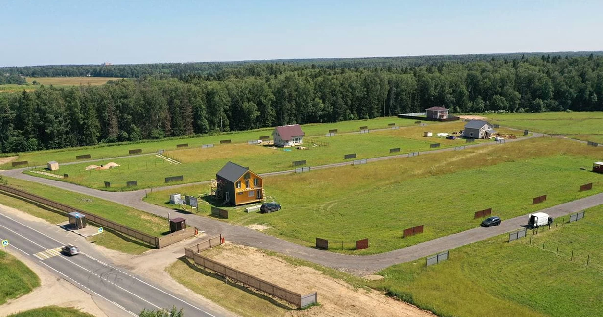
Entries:
{"label": "small green grass patch at left edge below the crosswalk sign", "polygon": [[[1,237],[0,237],[1,238]],[[14,250],[14,249],[13,249]],[[0,306],[40,286],[40,278],[25,263],[0,251]]]}

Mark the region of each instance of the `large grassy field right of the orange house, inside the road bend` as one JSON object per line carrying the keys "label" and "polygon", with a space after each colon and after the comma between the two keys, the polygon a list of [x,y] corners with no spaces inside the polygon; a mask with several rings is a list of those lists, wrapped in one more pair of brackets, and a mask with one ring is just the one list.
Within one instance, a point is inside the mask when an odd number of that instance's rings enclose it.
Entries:
{"label": "large grassy field right of the orange house, inside the road bend", "polygon": [[[476,227],[479,219],[473,213],[478,210],[491,207],[508,219],[601,192],[603,175],[580,169],[601,154],[569,140],[538,138],[267,177],[267,196],[283,209],[262,215],[231,208],[227,221],[266,225],[267,233],[305,245],[313,245],[316,237],[368,237],[368,249],[344,252],[382,253]],[[578,192],[590,182],[593,190]],[[147,201],[166,206],[173,192],[153,192]],[[206,195],[209,186],[178,192]],[[548,200],[532,206],[532,198],[544,194]],[[202,214],[209,210],[208,204],[200,207]],[[425,233],[402,239],[402,231],[415,225],[425,225]]]}

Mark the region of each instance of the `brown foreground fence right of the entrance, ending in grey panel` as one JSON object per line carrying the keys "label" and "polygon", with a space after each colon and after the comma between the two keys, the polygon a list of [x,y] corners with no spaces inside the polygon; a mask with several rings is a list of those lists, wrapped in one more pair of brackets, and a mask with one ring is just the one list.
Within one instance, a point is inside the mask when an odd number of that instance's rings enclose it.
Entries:
{"label": "brown foreground fence right of the entrance, ending in grey panel", "polygon": [[[221,236],[212,237],[209,240],[198,243],[192,248],[185,248],[185,256],[189,259],[194,260],[195,264],[203,266],[203,268],[210,269],[219,275],[222,275],[232,280],[238,281],[245,286],[253,289],[260,290],[261,292],[268,293],[276,298],[286,301],[289,304],[293,304],[295,307],[303,308],[311,304],[316,303],[317,293],[309,293],[307,295],[301,295],[300,293],[292,292],[291,290],[277,286],[276,284],[270,283],[269,281],[262,280],[261,278],[254,277],[251,274],[239,271],[238,269],[231,268],[230,266],[219,263],[215,260],[209,259],[199,254],[201,251],[207,250],[212,247],[212,240],[219,239],[219,244],[224,240]],[[197,253],[195,253],[195,248]]]}

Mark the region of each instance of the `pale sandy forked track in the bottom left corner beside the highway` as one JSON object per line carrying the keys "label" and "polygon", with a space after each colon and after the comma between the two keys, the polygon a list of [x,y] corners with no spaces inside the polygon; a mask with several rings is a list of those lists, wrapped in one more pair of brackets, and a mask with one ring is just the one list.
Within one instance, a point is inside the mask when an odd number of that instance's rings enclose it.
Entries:
{"label": "pale sandy forked track in the bottom left corner beside the highway", "polygon": [[51,305],[74,307],[96,317],[107,317],[103,310],[115,312],[117,309],[107,306],[107,303],[96,303],[88,293],[63,278],[55,277],[18,251],[11,254],[34,271],[42,283],[33,292],[0,306],[0,316]]}

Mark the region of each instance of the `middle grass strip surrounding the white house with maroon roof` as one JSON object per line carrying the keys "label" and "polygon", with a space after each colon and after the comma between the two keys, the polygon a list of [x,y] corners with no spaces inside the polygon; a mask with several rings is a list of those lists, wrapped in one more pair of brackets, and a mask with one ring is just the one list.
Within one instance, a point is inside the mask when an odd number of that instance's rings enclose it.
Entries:
{"label": "middle grass strip surrounding the white house with maroon roof", "polygon": [[[434,125],[434,133],[452,133],[463,127],[462,122]],[[127,159],[104,160],[97,165],[109,162],[117,163],[119,168],[108,170],[86,171],[91,163],[63,165],[58,175],[68,174],[63,181],[81,184],[87,187],[104,190],[133,190],[139,188],[158,187],[165,185],[165,177],[183,175],[180,183],[207,181],[215,178],[216,172],[229,161],[248,166],[254,172],[265,173],[292,169],[292,162],[306,160],[307,166],[319,166],[330,163],[346,162],[345,154],[356,153],[357,159],[368,159],[401,153],[429,151],[432,143],[440,143],[441,148],[465,145],[465,140],[446,140],[444,137],[423,137],[425,127],[409,127],[399,130],[373,131],[365,134],[341,134],[333,137],[308,137],[305,139],[307,149],[274,148],[261,145],[230,144],[216,145],[213,148],[180,149],[166,151],[182,165],[175,165],[157,157],[147,155]],[[312,146],[329,143],[329,146]],[[476,140],[476,143],[492,142]],[[400,148],[399,153],[390,154],[391,148]],[[42,168],[43,169],[43,168]],[[30,175],[41,176],[34,172]],[[53,178],[53,177],[48,177]],[[57,178],[54,178],[57,179]],[[137,187],[126,187],[127,181],[137,181]],[[106,189],[104,182],[109,181],[111,187]]]}

